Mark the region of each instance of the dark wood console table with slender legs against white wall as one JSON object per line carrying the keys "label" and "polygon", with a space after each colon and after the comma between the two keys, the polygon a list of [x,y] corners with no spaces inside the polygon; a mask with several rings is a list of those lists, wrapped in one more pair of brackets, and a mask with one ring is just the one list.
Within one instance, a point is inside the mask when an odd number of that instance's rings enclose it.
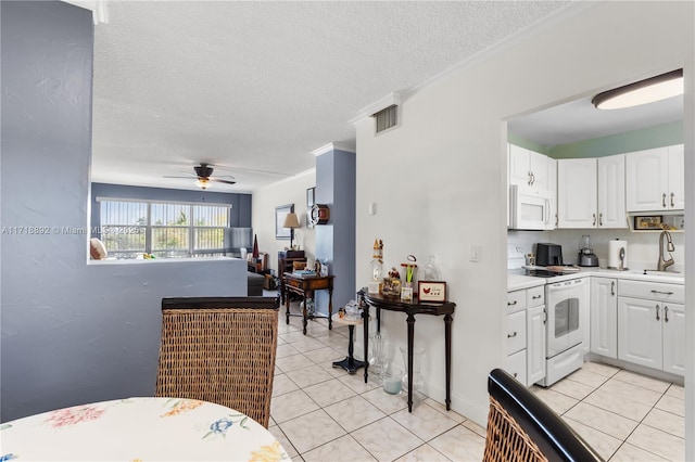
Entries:
{"label": "dark wood console table with slender legs against white wall", "polygon": [[[456,308],[456,304],[453,301],[445,301],[442,304],[434,303],[418,303],[417,298],[413,301],[401,301],[401,298],[395,296],[387,296],[380,294],[368,294],[363,288],[358,292],[358,295],[363,297],[365,301],[365,319],[369,319],[369,307],[377,309],[377,332],[381,330],[381,310],[400,311],[407,315],[408,323],[408,411],[413,412],[413,338],[415,336],[415,315],[432,315],[444,316],[444,349],[445,349],[445,365],[446,365],[446,410],[451,409],[451,381],[452,381],[452,315]],[[367,350],[367,342],[369,338],[367,322],[365,322],[365,350]],[[365,383],[367,382],[367,369],[365,368]]]}

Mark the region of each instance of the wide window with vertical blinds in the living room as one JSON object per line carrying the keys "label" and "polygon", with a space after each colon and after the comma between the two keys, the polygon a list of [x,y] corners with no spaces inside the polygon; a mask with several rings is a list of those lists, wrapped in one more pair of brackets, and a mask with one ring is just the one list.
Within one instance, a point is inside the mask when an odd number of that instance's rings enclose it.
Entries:
{"label": "wide window with vertical blinds in the living room", "polygon": [[110,256],[157,258],[225,255],[230,205],[98,200],[98,231]]}

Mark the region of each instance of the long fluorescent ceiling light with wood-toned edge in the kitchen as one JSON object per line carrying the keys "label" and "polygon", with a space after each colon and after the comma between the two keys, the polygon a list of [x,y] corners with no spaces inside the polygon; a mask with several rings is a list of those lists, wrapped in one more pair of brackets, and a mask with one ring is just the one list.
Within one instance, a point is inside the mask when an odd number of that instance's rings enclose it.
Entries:
{"label": "long fluorescent ceiling light with wood-toned edge in the kitchen", "polygon": [[621,110],[683,94],[683,69],[604,91],[591,102],[599,110]]}

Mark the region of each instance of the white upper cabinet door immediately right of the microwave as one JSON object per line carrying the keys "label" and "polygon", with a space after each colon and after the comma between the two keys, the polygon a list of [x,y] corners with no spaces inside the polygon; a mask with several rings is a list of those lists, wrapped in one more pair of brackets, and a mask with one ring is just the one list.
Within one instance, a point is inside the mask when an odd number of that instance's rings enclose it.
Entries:
{"label": "white upper cabinet door immediately right of the microwave", "polygon": [[596,228],[596,159],[557,161],[557,227]]}

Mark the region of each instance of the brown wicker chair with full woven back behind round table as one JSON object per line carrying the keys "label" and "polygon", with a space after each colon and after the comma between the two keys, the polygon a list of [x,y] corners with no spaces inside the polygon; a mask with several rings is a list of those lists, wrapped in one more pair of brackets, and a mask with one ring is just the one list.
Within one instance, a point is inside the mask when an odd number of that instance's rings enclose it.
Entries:
{"label": "brown wicker chair with full woven back behind round table", "polygon": [[216,402],[267,427],[278,299],[164,298],[162,321],[155,396]]}

